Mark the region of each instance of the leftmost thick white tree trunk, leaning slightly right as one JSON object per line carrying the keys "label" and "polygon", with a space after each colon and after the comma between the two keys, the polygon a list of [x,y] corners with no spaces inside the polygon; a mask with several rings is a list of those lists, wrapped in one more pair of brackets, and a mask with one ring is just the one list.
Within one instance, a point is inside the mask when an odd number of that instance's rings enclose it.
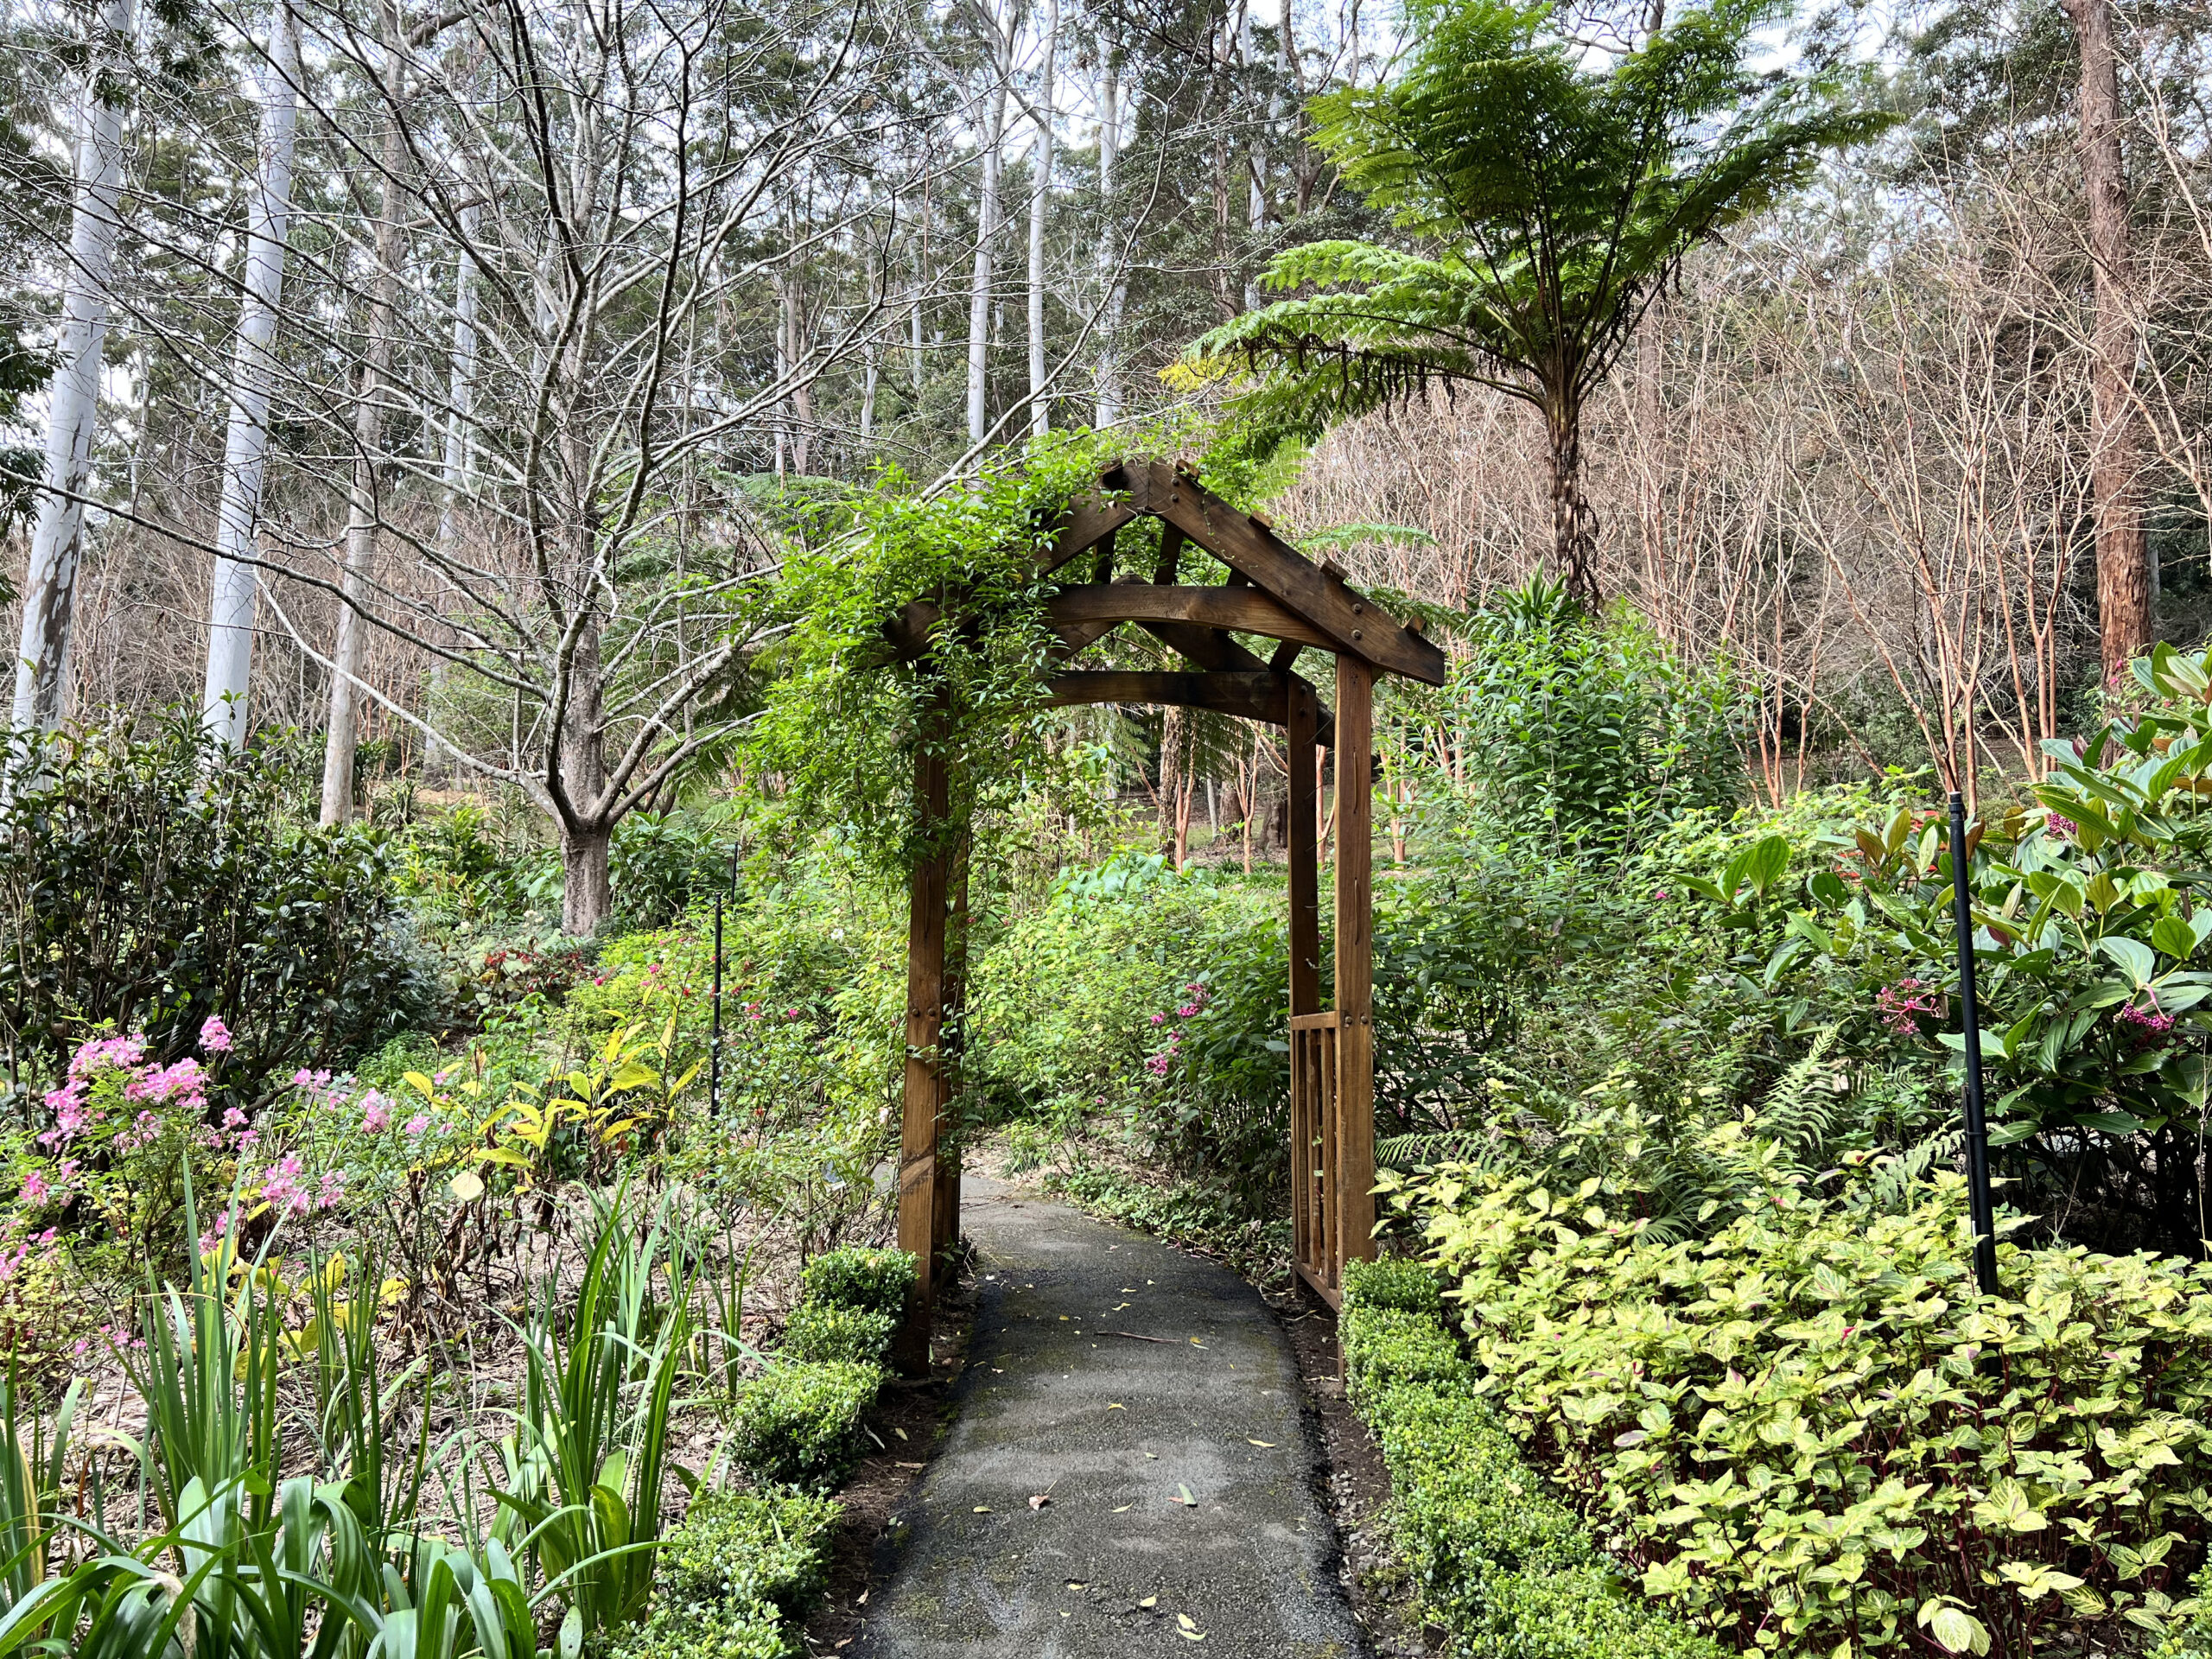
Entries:
{"label": "leftmost thick white tree trunk, leaning slightly right", "polygon": [[100,358],[108,338],[108,276],[115,270],[115,199],[124,177],[122,106],[97,97],[102,80],[122,77],[131,51],[133,0],[106,0],[100,42],[84,84],[77,139],[77,206],[69,226],[60,363],[46,414],[44,493],[31,526],[22,586],[22,646],[15,653],[18,732],[53,730],[69,712],[69,617],[84,560],[84,484],[93,469],[100,418]]}

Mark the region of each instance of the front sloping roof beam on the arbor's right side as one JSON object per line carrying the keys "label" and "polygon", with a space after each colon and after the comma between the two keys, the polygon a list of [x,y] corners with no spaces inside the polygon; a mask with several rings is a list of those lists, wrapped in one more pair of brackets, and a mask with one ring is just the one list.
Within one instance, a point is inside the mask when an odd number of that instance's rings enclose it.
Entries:
{"label": "front sloping roof beam on the arbor's right side", "polygon": [[1183,478],[1168,462],[1126,462],[1130,507],[1157,513],[1232,571],[1243,571],[1290,611],[1327,635],[1334,650],[1360,657],[1425,686],[1442,686],[1451,668],[1442,650],[1365,593],[1325,573],[1272,529]]}

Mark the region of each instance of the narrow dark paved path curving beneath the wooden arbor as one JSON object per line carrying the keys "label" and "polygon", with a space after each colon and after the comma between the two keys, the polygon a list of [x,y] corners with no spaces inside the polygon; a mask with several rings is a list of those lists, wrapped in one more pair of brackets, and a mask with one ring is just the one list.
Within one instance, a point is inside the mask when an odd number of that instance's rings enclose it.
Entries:
{"label": "narrow dark paved path curving beneath the wooden arbor", "polygon": [[1018,1188],[971,1177],[962,1214],[978,1294],[958,1420],[891,1517],[847,1652],[1367,1652],[1259,1294]]}

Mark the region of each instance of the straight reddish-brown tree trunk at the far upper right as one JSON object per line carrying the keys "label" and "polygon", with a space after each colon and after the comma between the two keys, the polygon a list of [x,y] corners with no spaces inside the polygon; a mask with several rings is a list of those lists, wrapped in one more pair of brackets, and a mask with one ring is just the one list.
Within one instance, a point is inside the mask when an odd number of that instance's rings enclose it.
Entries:
{"label": "straight reddish-brown tree trunk at the far upper right", "polygon": [[2110,681],[2150,644],[2150,571],[2143,535],[2143,434],[2135,414],[2135,250],[2128,175],[2119,148],[2119,62],[2110,0],[2064,0],[2081,49],[2081,186],[2097,265],[2090,405],[2095,449],[2090,498],[2097,515],[2097,630]]}

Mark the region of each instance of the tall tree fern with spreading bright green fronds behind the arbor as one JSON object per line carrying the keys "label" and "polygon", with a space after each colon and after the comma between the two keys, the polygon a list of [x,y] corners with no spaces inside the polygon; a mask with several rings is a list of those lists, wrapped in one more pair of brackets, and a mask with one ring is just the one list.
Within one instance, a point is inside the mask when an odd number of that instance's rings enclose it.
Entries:
{"label": "tall tree fern with spreading bright green fronds behind the arbor", "polygon": [[1285,250],[1265,285],[1303,292],[1197,352],[1250,365],[1254,411],[1283,429],[1438,383],[1520,398],[1544,420],[1553,560],[1595,604],[1584,407],[1644,305],[1690,248],[1889,124],[1836,75],[1747,69],[1785,15],[1714,0],[1593,62],[1551,7],[1422,0],[1394,80],[1312,104],[1318,146],[1396,239]]}

